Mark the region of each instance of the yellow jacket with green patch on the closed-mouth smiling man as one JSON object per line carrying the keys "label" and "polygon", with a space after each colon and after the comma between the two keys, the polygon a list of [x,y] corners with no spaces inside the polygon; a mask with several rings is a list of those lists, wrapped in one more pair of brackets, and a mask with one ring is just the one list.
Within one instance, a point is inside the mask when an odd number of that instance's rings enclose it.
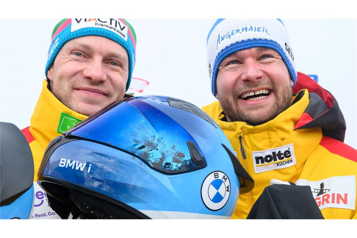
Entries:
{"label": "yellow jacket with green patch on the closed-mouth smiling man", "polygon": [[47,88],[47,81],[42,82],[42,91],[31,116],[30,126],[21,130],[34,157],[34,182],[37,181],[37,172],[48,143],[85,118],[87,116],[63,105]]}

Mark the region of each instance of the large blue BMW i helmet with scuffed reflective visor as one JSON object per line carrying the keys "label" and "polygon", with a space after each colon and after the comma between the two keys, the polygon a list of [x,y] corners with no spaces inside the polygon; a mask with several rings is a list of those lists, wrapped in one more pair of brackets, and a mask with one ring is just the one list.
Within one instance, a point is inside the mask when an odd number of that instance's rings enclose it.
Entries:
{"label": "large blue BMW i helmet with scuffed reflective visor", "polygon": [[37,183],[62,218],[230,218],[251,191],[217,124],[164,96],[116,101],[52,140]]}

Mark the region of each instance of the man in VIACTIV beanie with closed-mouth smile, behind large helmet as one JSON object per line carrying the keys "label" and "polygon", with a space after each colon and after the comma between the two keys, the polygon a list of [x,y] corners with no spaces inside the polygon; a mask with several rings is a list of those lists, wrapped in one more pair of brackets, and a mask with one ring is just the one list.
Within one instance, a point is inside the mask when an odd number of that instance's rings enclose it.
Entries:
{"label": "man in VIACTIV beanie with closed-mouth smile, behind large helmet", "polygon": [[130,97],[125,92],[136,55],[136,34],[125,19],[62,19],[49,43],[46,79],[31,125],[21,130],[34,158],[34,219],[59,218],[36,183],[47,145],[101,108]]}

